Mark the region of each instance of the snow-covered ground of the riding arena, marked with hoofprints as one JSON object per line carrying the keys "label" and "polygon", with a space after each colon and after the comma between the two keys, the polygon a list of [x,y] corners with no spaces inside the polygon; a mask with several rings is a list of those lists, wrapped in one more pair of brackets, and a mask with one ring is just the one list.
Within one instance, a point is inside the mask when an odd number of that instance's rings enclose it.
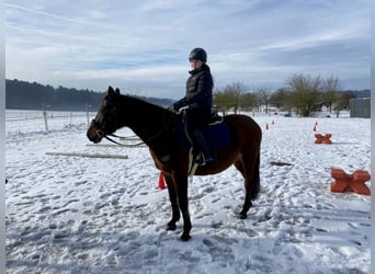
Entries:
{"label": "snow-covered ground of the riding arena, marked with hoofprints", "polygon": [[[248,219],[235,217],[243,202],[235,168],[194,176],[192,239],[182,242],[181,221],[164,230],[168,193],[147,147],[88,146],[84,114],[56,115],[48,134],[42,118],[9,119],[18,115],[7,111],[8,273],[370,272],[371,196],[329,187],[333,167],[370,172],[370,119],[255,116],[262,190]],[[315,144],[316,122],[332,145]]]}

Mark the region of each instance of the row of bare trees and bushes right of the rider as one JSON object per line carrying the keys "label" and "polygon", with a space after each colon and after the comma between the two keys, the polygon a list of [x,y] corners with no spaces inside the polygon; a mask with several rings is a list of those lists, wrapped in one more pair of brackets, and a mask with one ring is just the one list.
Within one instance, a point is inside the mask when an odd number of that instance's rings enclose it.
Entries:
{"label": "row of bare trees and bushes right of the rider", "polygon": [[[364,90],[370,96],[370,90]],[[232,82],[214,93],[214,104],[223,112],[259,111],[261,106],[269,113],[270,106],[282,112],[295,112],[300,116],[310,116],[323,105],[330,113],[339,114],[349,110],[350,100],[356,98],[359,91],[343,91],[339,78],[311,77],[295,73],[285,81],[285,87],[272,90],[265,87],[249,91],[242,82]]]}

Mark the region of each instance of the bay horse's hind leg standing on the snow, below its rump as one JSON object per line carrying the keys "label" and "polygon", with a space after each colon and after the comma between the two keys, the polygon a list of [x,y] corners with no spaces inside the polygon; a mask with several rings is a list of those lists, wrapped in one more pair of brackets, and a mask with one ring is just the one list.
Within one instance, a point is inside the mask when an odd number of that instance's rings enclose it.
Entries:
{"label": "bay horse's hind leg standing on the snow, below its rump", "polygon": [[245,179],[245,202],[242,210],[239,213],[239,218],[246,219],[248,212],[252,206],[251,201],[255,199],[260,191],[259,164],[260,157],[253,160],[245,159],[243,157],[235,162],[235,167],[241,172]]}

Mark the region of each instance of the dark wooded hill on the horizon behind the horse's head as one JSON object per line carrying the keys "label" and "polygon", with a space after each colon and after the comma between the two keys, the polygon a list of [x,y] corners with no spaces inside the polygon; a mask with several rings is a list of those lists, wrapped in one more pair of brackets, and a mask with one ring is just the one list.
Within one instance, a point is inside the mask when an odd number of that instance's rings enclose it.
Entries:
{"label": "dark wooded hill on the horizon behind the horse's head", "polygon": [[[87,105],[100,104],[104,92],[94,92],[88,89],[77,90],[22,80],[5,80],[5,109],[42,110],[48,105],[52,111],[86,111]],[[170,99],[144,98],[152,104],[168,106],[174,101]]]}

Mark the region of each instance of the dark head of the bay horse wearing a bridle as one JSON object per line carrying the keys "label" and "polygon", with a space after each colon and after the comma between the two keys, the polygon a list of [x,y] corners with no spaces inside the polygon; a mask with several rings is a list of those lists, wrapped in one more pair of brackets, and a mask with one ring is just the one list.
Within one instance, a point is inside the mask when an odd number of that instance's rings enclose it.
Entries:
{"label": "dark head of the bay horse wearing a bridle", "polygon": [[102,100],[95,118],[89,126],[87,136],[93,142],[100,142],[103,137],[113,134],[121,126],[118,124],[118,98],[120,90],[109,87],[107,93]]}

